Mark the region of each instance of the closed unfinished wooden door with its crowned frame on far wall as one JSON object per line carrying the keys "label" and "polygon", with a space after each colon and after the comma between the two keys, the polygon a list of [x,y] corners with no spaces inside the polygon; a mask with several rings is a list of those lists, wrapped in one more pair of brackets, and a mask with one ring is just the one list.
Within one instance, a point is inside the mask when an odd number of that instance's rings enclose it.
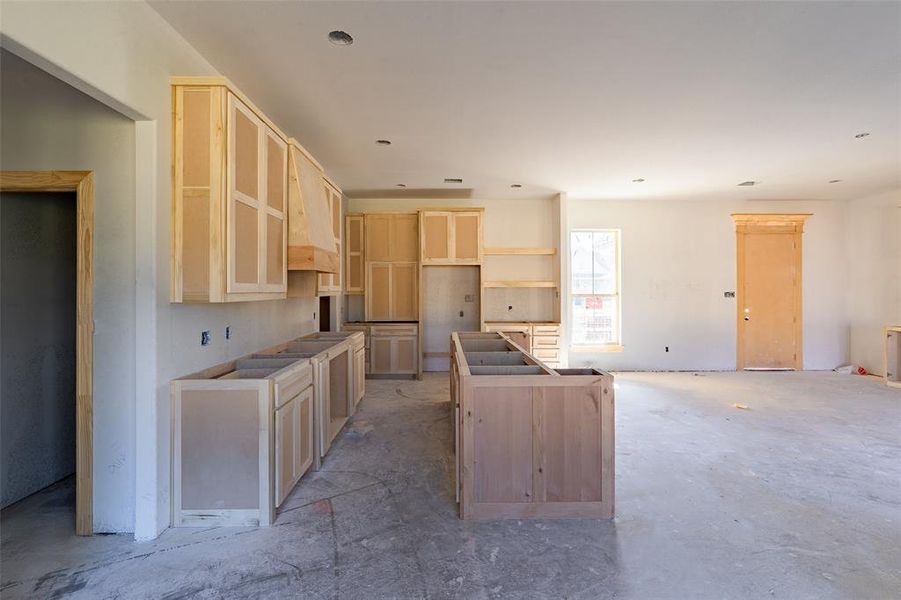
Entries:
{"label": "closed unfinished wooden door with its crowned frame on far wall", "polygon": [[738,369],[803,366],[801,235],[808,215],[733,215]]}

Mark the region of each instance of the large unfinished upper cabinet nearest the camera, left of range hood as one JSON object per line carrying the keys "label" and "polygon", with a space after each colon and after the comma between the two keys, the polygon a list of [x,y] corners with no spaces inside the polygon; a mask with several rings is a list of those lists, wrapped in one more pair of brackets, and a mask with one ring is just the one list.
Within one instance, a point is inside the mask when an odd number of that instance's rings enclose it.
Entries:
{"label": "large unfinished upper cabinet nearest the camera, left of range hood", "polygon": [[287,140],[223,78],[173,78],[172,302],[284,298]]}

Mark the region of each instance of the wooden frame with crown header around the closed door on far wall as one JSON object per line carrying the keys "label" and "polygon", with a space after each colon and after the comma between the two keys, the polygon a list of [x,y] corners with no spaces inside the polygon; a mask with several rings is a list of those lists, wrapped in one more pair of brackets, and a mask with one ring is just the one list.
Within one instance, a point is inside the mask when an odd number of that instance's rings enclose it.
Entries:
{"label": "wooden frame with crown header around the closed door on far wall", "polygon": [[801,371],[804,368],[804,322],[802,319],[803,279],[802,279],[802,234],[804,222],[811,213],[734,213],[732,220],[735,222],[736,244],[736,348],[735,369],[745,369],[745,332],[742,325],[745,306],[745,235],[747,234],[784,234],[792,235],[795,241],[795,271],[798,274],[797,285],[794,294],[795,317],[795,361],[794,369]]}

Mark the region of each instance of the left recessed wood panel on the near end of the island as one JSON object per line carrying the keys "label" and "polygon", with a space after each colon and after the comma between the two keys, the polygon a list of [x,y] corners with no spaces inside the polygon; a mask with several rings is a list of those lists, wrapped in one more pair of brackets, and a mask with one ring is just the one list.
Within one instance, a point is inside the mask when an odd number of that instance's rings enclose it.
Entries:
{"label": "left recessed wood panel on the near end of the island", "polygon": [[474,388],[476,502],[532,501],[532,391]]}

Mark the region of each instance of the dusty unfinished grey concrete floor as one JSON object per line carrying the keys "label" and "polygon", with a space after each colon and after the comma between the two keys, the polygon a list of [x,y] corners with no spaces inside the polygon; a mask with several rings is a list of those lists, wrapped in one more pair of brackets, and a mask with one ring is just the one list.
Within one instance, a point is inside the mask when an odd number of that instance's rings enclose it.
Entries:
{"label": "dusty unfinished grey concrete floor", "polygon": [[901,391],[831,373],[617,384],[612,522],[458,520],[446,377],[370,380],[273,527],[76,538],[57,486],[3,512],[2,595],[901,597]]}

